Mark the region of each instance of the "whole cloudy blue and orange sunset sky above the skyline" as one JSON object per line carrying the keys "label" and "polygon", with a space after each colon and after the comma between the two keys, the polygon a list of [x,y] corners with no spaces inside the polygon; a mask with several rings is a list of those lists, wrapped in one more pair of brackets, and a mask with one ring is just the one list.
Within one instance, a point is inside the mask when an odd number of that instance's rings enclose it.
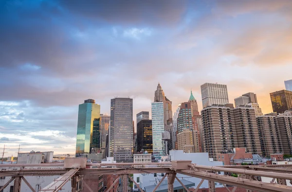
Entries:
{"label": "whole cloudy blue and orange sunset sky above the skyline", "polygon": [[75,152],[78,105],[133,98],[158,82],[173,112],[192,89],[226,84],[229,102],[292,79],[292,0],[1,0],[0,152]]}

